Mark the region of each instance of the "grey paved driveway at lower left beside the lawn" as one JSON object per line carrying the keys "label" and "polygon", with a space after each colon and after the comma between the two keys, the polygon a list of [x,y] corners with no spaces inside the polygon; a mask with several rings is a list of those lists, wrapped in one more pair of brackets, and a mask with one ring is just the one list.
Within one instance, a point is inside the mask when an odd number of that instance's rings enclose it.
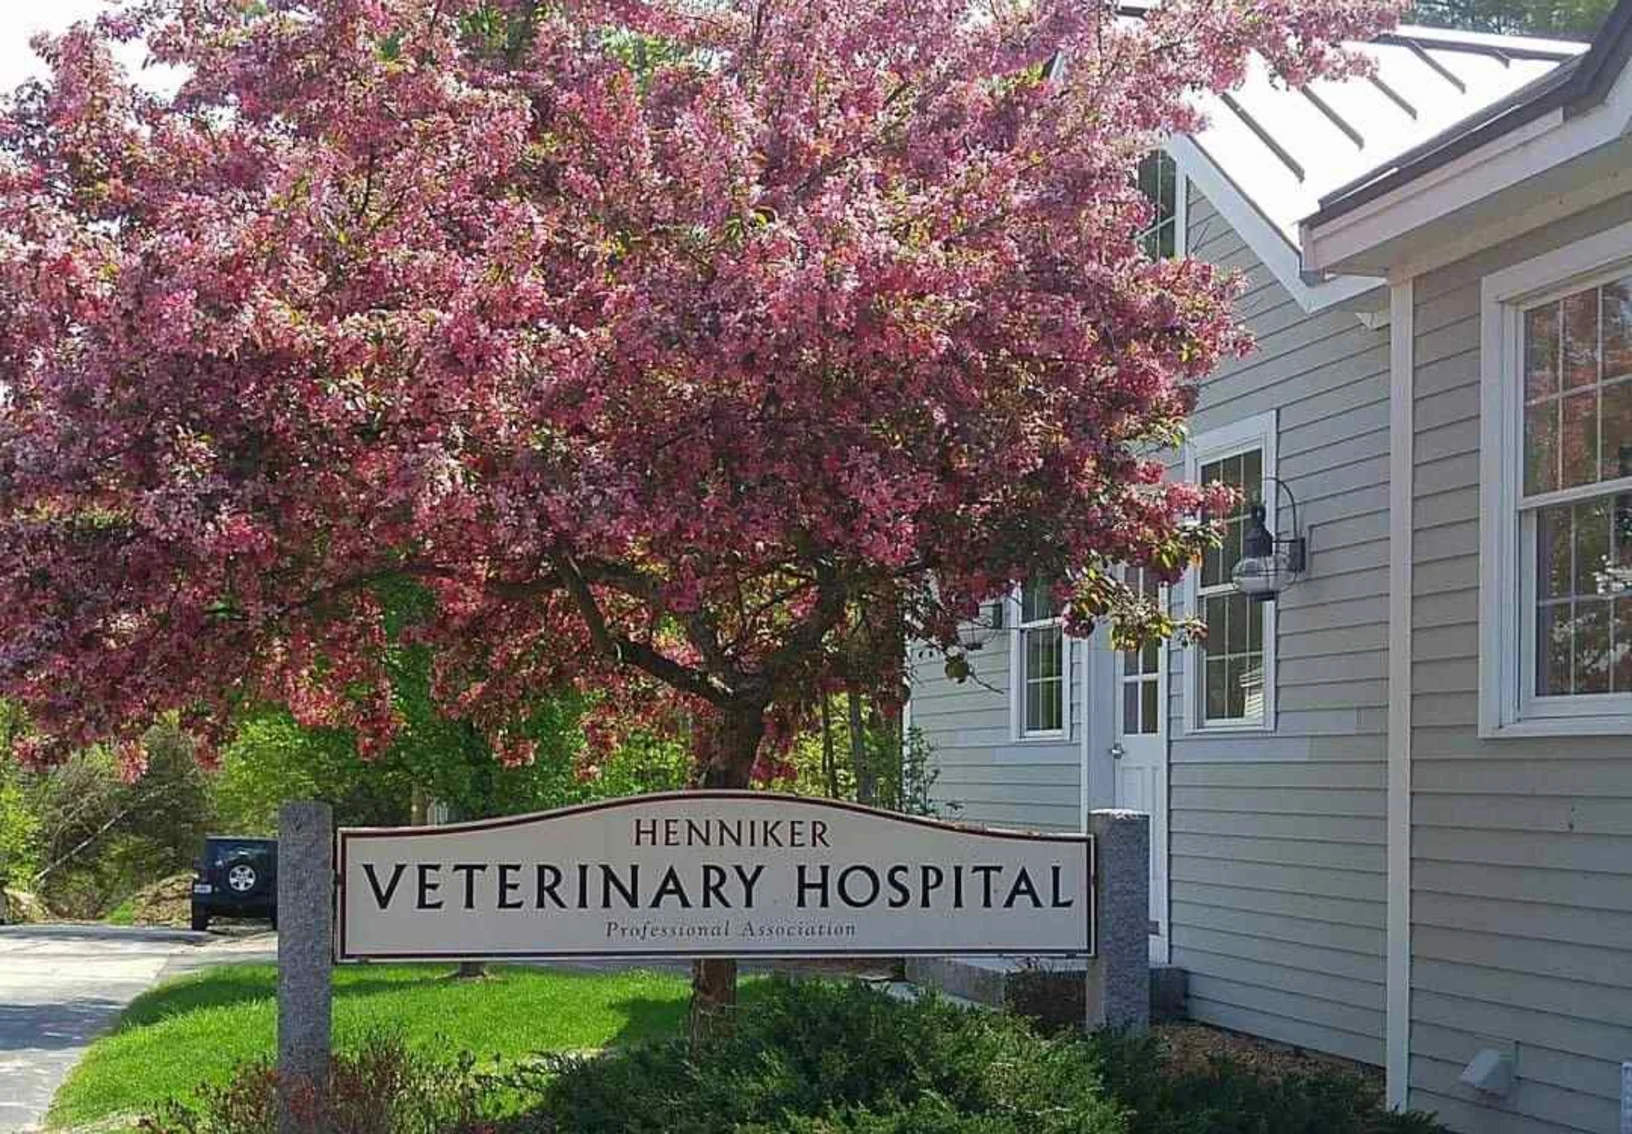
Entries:
{"label": "grey paved driveway at lower left beside the lawn", "polygon": [[264,941],[101,925],[0,925],[0,1131],[34,1129],[85,1048],[160,976],[259,959]]}

